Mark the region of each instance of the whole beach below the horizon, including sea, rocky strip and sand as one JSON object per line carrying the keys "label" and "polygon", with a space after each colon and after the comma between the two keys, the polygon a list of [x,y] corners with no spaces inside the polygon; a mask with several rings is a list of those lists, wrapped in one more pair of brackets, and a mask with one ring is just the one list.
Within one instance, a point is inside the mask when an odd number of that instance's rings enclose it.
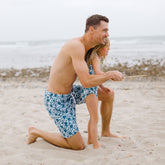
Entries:
{"label": "whole beach below the horizon, including sea, rocky strip and sand", "polygon": [[115,92],[111,132],[126,139],[101,137],[99,116],[98,139],[104,147],[87,145],[89,114],[82,104],[76,114],[84,150],[59,148],[40,138],[26,144],[29,126],[58,132],[46,111],[44,91],[66,41],[0,42],[0,164],[164,165],[165,36],[111,39],[102,70],[124,75],[121,82],[104,83]]}

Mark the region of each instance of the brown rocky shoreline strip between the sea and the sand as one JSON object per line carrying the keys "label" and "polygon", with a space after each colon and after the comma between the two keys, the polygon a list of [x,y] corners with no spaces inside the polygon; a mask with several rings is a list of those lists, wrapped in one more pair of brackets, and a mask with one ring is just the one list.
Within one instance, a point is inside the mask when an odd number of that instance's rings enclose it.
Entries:
{"label": "brown rocky shoreline strip between the sea and the sand", "polygon": [[[133,66],[128,63],[117,63],[113,66],[102,66],[104,72],[109,70],[118,70],[123,73],[124,77],[134,77],[140,79],[164,79],[165,78],[165,63],[160,60],[142,60]],[[51,66],[39,68],[0,68],[0,80],[7,79],[48,79]]]}

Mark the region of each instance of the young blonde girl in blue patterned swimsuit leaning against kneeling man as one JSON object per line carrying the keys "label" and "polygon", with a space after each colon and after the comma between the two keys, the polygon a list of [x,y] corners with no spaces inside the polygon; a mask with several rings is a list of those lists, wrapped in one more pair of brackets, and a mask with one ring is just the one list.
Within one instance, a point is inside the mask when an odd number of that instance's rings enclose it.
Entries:
{"label": "young blonde girl in blue patterned swimsuit leaning against kneeling man", "polygon": [[[100,69],[100,62],[103,62],[105,57],[108,55],[110,49],[109,39],[106,40],[104,45],[97,45],[93,49],[90,49],[86,55],[86,62],[89,67],[90,74],[102,74]],[[108,88],[103,85],[99,86],[103,91],[110,92]],[[93,87],[96,93],[88,94],[86,96],[85,102],[90,114],[90,119],[88,122],[88,144],[93,144],[93,148],[99,148],[99,142],[97,137],[97,123],[98,123],[98,98],[97,98],[97,87]],[[87,93],[91,88],[85,89]]]}

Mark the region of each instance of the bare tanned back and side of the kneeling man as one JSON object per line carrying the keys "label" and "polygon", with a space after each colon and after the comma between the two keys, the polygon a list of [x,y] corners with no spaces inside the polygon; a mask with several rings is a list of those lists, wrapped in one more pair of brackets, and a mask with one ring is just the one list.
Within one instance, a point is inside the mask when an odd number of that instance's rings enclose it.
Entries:
{"label": "bare tanned back and side of the kneeling man", "polygon": [[48,90],[57,94],[70,93],[72,85],[77,77],[71,55],[74,53],[73,47],[84,49],[80,38],[68,41],[57,55],[51,68]]}

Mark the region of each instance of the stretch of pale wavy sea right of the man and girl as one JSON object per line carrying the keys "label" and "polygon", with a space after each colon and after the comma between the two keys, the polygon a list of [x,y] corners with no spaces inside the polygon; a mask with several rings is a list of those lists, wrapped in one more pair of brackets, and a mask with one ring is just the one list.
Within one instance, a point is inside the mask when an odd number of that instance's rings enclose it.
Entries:
{"label": "stretch of pale wavy sea right of the man and girl", "polygon": [[142,59],[165,61],[165,36],[130,37],[111,40],[111,50],[105,64],[128,63],[135,65]]}

